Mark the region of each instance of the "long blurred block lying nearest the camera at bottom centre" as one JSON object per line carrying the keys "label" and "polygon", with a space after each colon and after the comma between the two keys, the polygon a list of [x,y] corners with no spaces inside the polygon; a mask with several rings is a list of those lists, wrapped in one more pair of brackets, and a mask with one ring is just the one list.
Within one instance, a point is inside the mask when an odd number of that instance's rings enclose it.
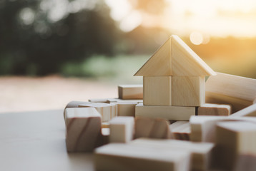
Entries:
{"label": "long blurred block lying nearest the camera at bottom centre", "polygon": [[190,152],[111,143],[95,150],[94,168],[101,171],[187,171]]}

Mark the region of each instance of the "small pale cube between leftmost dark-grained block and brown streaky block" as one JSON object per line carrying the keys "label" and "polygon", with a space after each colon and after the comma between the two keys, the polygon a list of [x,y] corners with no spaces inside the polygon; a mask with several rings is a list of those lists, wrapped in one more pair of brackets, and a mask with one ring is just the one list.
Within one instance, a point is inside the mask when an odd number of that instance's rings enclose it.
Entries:
{"label": "small pale cube between leftmost dark-grained block and brown streaky block", "polygon": [[134,137],[134,118],[119,116],[109,122],[109,142],[129,142]]}

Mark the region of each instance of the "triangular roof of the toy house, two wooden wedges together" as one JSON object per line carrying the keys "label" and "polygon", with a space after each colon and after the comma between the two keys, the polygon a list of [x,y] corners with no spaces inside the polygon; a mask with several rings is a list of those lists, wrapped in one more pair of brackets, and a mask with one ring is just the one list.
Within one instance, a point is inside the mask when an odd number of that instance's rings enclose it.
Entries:
{"label": "triangular roof of the toy house, two wooden wedges together", "polygon": [[179,36],[171,36],[134,76],[215,76]]}

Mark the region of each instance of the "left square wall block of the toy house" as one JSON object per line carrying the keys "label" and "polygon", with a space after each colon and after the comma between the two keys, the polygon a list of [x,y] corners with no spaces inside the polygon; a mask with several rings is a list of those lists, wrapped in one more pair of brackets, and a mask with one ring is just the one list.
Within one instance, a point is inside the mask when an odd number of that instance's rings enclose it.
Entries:
{"label": "left square wall block of the toy house", "polygon": [[143,77],[144,105],[172,105],[172,76]]}

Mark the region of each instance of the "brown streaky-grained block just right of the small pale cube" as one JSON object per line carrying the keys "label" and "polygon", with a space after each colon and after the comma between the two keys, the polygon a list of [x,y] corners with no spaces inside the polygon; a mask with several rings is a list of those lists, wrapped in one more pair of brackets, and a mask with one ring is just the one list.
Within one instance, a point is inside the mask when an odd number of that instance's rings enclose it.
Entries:
{"label": "brown streaky-grained block just right of the small pale cube", "polygon": [[157,118],[135,118],[135,138],[169,139],[169,121]]}

